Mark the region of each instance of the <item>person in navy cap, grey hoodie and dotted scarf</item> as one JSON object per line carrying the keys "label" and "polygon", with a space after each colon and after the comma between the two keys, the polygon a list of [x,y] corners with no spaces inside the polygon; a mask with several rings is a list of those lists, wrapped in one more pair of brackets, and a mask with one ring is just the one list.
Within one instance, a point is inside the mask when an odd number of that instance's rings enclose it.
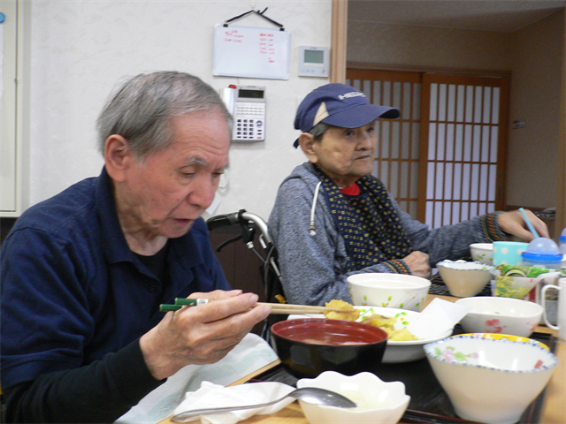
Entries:
{"label": "person in navy cap, grey hoodie and dotted scarf", "polygon": [[[518,211],[434,230],[403,212],[371,176],[378,142],[374,121],[400,115],[336,83],[318,87],[299,105],[294,128],[302,134],[294,147],[301,146],[309,162],[279,186],[268,223],[288,303],[351,302],[346,278],[352,274],[429,276],[438,261],[469,258],[470,243],[533,238]],[[547,237],[546,224],[527,213]]]}

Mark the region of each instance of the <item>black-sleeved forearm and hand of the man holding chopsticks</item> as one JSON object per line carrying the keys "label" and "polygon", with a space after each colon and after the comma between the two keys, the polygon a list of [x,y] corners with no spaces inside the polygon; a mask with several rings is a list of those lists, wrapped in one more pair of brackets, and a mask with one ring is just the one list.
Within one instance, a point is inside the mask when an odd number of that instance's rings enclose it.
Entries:
{"label": "black-sleeved forearm and hand of the man holding chopsticks", "polygon": [[254,307],[257,295],[253,293],[216,291],[192,296],[215,301],[166,314],[140,340],[103,360],[40,375],[34,382],[4,390],[6,422],[114,422],[181,367],[222,359],[270,312],[269,307]]}

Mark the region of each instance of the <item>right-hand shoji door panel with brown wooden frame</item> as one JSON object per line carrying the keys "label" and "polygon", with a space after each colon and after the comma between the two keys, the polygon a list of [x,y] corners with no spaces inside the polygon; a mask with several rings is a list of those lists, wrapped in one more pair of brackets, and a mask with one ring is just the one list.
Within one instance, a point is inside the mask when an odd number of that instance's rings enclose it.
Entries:
{"label": "right-hand shoji door panel with brown wooden frame", "polygon": [[418,216],[432,228],[503,206],[509,79],[424,74]]}

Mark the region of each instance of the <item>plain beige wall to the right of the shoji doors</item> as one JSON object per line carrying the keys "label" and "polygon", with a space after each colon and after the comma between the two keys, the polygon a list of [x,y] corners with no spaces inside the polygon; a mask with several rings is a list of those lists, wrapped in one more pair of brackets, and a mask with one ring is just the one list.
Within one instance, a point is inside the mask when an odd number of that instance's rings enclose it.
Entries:
{"label": "plain beige wall to the right of the shoji doors", "polygon": [[[507,203],[556,206],[564,12],[513,37]],[[525,127],[512,129],[522,119]]]}

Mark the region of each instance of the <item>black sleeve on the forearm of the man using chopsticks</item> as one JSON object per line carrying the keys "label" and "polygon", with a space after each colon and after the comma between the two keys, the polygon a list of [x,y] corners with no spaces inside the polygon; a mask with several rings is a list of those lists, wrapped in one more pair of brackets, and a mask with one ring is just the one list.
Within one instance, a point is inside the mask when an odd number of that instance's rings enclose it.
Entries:
{"label": "black sleeve on the forearm of the man using chopsticks", "polygon": [[163,382],[149,373],[136,340],[86,367],[40,375],[5,389],[5,421],[112,423]]}

